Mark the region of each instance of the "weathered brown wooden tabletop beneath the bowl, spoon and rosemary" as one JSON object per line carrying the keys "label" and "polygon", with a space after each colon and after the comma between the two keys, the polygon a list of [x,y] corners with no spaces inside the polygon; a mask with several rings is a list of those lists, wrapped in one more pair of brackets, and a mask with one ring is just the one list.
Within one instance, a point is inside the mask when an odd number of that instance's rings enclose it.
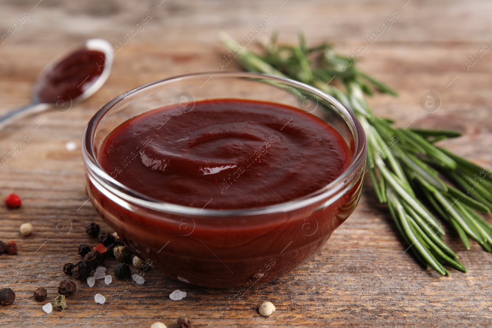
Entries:
{"label": "weathered brown wooden tabletop beneath the bowl, spoon and rosemary", "polygon": [[[390,30],[360,56],[364,69],[400,92],[399,98],[371,99],[374,112],[397,119],[400,126],[457,128],[464,136],[445,146],[490,167],[492,53],[476,57],[468,70],[463,64],[484,43],[492,45],[487,39],[492,36],[490,1],[37,1],[0,4],[1,33],[23,13],[29,15],[21,30],[0,45],[1,113],[29,101],[35,75],[64,49],[91,37],[122,44],[119,38],[146,13],[152,18],[118,51],[110,78],[90,99],[65,113],[43,113],[0,132],[0,155],[22,136],[29,137],[21,153],[0,168],[1,197],[15,192],[24,202],[19,210],[0,208],[0,239],[15,239],[19,246],[17,255],[0,256],[0,287],[17,294],[14,303],[0,306],[1,327],[150,327],[155,321],[177,327],[179,316],[192,318],[195,327],[210,328],[490,326],[492,255],[476,242],[466,251],[456,235],[448,234],[468,273],[451,270],[450,277],[441,277],[424,270],[405,252],[370,185],[316,256],[238,301],[232,298],[237,290],[190,287],[155,270],[146,273],[144,285],[124,287],[116,279],[108,286],[101,280],[93,288],[80,284],[62,312],[45,314],[45,302],[32,298],[39,286],[48,289],[49,299],[57,295],[58,283],[66,277],[63,264],[79,260],[79,242],[93,243],[84,232],[87,223],[109,230],[84,191],[81,136],[96,110],[158,78],[218,70],[223,55],[218,32],[239,39],[271,12],[275,18],[258,40],[281,30],[281,41],[295,42],[296,33],[304,30],[310,44],[327,40],[347,54],[397,13]],[[236,63],[226,67],[238,68]],[[429,91],[442,103],[435,113],[420,106]],[[75,150],[66,149],[69,142]],[[24,222],[34,226],[27,238],[19,234]],[[169,299],[176,289],[186,291],[186,298]],[[111,301],[96,304],[95,293]],[[268,318],[257,312],[264,300],[277,306]]]}

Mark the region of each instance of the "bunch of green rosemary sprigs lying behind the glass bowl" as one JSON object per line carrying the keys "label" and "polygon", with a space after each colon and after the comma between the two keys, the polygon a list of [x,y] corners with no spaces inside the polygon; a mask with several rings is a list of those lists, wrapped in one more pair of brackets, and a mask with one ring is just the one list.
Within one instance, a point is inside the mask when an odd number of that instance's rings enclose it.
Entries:
{"label": "bunch of green rosemary sprigs lying behind the glass bowl", "polygon": [[[222,34],[221,39],[231,52],[238,49],[229,35]],[[393,120],[373,115],[364,94],[377,90],[396,96],[397,92],[360,71],[355,60],[336,54],[330,45],[307,47],[302,34],[298,46],[278,45],[274,34],[263,55],[244,48],[236,57],[248,71],[287,77],[321,89],[357,115],[367,136],[366,166],[376,195],[388,204],[398,230],[425,267],[443,275],[449,275],[444,265],[466,272],[443,240],[441,221],[457,232],[466,249],[470,249],[469,237],[492,251],[492,227],[477,213],[492,209],[490,171],[434,145],[461,133],[401,129]]]}

